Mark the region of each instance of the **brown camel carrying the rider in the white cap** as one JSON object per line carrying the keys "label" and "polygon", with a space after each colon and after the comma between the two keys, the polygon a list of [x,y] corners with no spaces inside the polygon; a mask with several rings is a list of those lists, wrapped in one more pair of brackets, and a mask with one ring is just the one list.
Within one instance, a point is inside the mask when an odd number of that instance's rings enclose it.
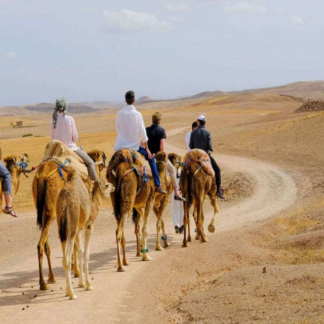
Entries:
{"label": "brown camel carrying the rider in the white cap", "polygon": [[[187,247],[187,242],[191,242],[190,236],[190,220],[189,220],[189,209],[194,205],[193,218],[196,223],[197,235],[196,239],[200,239],[201,242],[208,242],[208,238],[204,232],[204,211],[203,203],[207,196],[211,201],[211,205],[214,208],[214,215],[208,230],[211,233],[215,231],[215,218],[218,213],[218,206],[216,204],[216,182],[214,176],[212,177],[195,161],[192,161],[181,171],[180,186],[182,194],[186,198],[184,201],[184,237],[182,247]],[[186,237],[186,226],[188,226],[188,237]]]}

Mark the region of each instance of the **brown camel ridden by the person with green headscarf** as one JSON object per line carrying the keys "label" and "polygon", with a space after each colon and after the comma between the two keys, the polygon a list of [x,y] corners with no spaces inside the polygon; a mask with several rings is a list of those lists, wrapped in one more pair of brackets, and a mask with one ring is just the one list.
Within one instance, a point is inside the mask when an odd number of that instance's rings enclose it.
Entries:
{"label": "brown camel ridden by the person with green headscarf", "polygon": [[[96,173],[99,177],[100,171],[105,166],[105,154],[99,150],[93,150],[88,152],[88,155],[95,161]],[[62,169],[64,179],[66,179],[67,173]],[[90,180],[88,179],[88,188],[90,188]],[[55,276],[52,270],[51,264],[51,248],[48,240],[51,224],[56,217],[56,200],[59,192],[64,186],[64,180],[61,178],[58,172],[58,166],[52,161],[46,161],[39,166],[32,182],[32,193],[34,203],[37,210],[37,225],[42,230],[41,238],[37,245],[38,251],[38,267],[39,267],[39,289],[49,290],[50,286],[45,283],[43,276],[43,255],[44,252],[47,257],[49,265],[49,283],[56,282]],[[76,258],[76,255],[75,255]],[[77,265],[77,261],[75,260]],[[75,275],[78,276],[78,267],[74,267]]]}

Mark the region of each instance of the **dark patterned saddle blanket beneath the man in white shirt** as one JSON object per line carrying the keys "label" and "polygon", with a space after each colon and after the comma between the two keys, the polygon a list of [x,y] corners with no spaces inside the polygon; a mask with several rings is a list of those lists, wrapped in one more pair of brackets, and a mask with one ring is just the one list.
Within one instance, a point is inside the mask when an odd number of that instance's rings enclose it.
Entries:
{"label": "dark patterned saddle blanket beneath the man in white shirt", "polygon": [[109,176],[111,171],[115,171],[120,163],[127,162],[132,166],[138,176],[143,177],[144,174],[148,177],[152,177],[152,171],[148,161],[144,156],[134,150],[121,149],[116,151],[108,164],[107,175]]}

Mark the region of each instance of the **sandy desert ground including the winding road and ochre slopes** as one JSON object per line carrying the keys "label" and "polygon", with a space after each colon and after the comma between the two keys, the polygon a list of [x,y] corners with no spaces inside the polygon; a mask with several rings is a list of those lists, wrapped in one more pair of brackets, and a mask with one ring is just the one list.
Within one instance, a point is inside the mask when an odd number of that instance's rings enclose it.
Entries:
{"label": "sandy desert ground including the winding road and ochre slopes", "polygon": [[[121,273],[116,272],[116,222],[106,200],[91,242],[94,290],[77,288],[74,278],[76,300],[64,296],[56,222],[50,244],[57,281],[49,291],[38,289],[34,173],[21,176],[14,198],[18,218],[0,215],[0,322],[324,323],[324,111],[294,113],[301,102],[287,96],[319,99],[322,93],[318,83],[299,83],[139,104],[146,126],[155,111],[161,112],[167,152],[182,156],[192,121],[198,114],[206,116],[226,200],[218,200],[216,231],[208,233],[209,242],[189,242],[188,248],[181,248],[183,236],[174,232],[169,204],[164,219],[171,245],[154,251],[151,213],[151,262],[135,257],[129,219],[125,234],[130,264]],[[4,111],[3,158],[28,153],[30,166],[38,165],[50,139],[51,114]],[[71,114],[86,150],[98,148],[110,158],[116,112],[112,107]],[[24,127],[13,128],[16,120],[23,120]],[[212,216],[207,200],[205,225]],[[45,258],[44,268],[47,276]]]}

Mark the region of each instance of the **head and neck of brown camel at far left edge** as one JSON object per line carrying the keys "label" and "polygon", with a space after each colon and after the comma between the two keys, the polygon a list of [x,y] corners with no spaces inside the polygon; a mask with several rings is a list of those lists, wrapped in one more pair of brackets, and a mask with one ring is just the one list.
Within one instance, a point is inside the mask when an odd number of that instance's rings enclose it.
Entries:
{"label": "head and neck of brown camel at far left edge", "polygon": [[[12,198],[14,198],[14,195],[17,193],[19,188],[21,174],[24,174],[26,176],[24,171],[28,167],[28,154],[22,153],[19,155],[9,155],[4,158],[4,162],[11,175],[11,195]],[[2,181],[0,181],[0,207],[2,206],[2,199],[3,189]]]}

